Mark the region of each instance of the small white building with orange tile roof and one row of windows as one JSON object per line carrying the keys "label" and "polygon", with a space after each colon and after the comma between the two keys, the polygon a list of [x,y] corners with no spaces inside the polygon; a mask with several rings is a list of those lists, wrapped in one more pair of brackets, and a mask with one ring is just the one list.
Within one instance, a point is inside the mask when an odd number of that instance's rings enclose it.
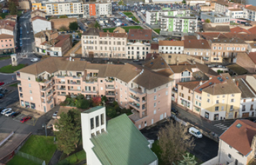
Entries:
{"label": "small white building with orange tile roof and one row of windows", "polygon": [[183,40],[159,40],[159,53],[183,54]]}

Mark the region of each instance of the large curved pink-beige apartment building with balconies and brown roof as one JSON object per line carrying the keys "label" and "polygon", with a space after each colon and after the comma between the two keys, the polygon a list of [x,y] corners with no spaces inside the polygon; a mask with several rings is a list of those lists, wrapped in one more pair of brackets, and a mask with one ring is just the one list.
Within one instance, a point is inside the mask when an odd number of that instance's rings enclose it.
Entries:
{"label": "large curved pink-beige apartment building with balconies and brown roof", "polygon": [[[122,108],[138,129],[170,117],[172,81],[138,65],[100,65],[50,57],[16,72],[20,105],[48,112],[69,95],[106,96]],[[154,78],[152,78],[154,77]]]}

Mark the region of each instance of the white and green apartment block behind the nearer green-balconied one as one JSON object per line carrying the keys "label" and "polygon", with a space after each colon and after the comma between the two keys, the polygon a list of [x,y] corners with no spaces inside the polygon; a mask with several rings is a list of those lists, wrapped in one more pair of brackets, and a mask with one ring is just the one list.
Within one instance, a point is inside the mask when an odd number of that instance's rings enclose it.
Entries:
{"label": "white and green apartment block behind the nearer green-balconied one", "polygon": [[146,11],[146,23],[149,25],[160,25],[162,16],[189,17],[189,9],[173,9],[162,11]]}

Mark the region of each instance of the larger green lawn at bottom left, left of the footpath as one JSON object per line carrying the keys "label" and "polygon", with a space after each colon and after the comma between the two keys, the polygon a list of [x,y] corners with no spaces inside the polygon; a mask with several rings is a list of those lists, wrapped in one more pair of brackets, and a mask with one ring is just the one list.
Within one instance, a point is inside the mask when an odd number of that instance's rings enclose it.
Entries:
{"label": "larger green lawn at bottom left, left of the footpath", "polygon": [[46,164],[48,164],[57,149],[53,139],[54,137],[52,136],[31,135],[20,149],[20,152],[45,160]]}

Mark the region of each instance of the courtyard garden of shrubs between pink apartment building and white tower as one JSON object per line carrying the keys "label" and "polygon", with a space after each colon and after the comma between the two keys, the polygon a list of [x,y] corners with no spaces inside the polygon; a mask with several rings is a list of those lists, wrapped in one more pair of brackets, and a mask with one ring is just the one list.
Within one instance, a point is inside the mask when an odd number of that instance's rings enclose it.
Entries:
{"label": "courtyard garden of shrubs between pink apartment building and white tower", "polygon": [[78,94],[77,96],[66,96],[66,100],[61,102],[61,106],[71,106],[81,109],[88,109],[94,106],[106,106],[106,115],[109,118],[115,118],[120,114],[127,114],[129,116],[132,114],[130,109],[120,108],[119,104],[116,101],[109,102],[106,96],[98,96],[95,98],[84,98],[84,95]]}

